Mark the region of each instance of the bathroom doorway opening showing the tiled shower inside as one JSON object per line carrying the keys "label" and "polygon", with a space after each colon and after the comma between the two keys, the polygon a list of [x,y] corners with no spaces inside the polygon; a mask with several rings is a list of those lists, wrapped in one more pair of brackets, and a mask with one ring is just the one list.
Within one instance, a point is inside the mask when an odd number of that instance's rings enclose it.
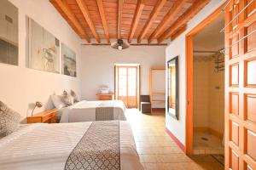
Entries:
{"label": "bathroom doorway opening showing the tiled shower inside", "polygon": [[193,153],[224,165],[224,14],[193,38]]}

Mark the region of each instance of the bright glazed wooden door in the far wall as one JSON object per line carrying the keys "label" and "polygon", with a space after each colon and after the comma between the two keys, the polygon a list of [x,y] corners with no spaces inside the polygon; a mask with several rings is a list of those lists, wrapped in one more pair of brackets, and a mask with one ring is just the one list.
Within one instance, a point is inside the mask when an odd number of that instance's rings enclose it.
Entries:
{"label": "bright glazed wooden door in the far wall", "polygon": [[117,99],[126,107],[137,108],[137,66],[117,66]]}

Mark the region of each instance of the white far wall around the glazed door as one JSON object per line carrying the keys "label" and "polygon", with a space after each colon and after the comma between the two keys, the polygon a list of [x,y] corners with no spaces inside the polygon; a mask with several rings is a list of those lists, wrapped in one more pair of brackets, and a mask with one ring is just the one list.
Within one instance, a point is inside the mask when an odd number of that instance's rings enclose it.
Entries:
{"label": "white far wall around the glazed door", "polygon": [[96,92],[102,85],[107,85],[113,91],[114,64],[141,64],[141,94],[149,94],[149,68],[165,65],[165,48],[131,46],[119,51],[109,46],[83,46],[82,98],[96,99]]}

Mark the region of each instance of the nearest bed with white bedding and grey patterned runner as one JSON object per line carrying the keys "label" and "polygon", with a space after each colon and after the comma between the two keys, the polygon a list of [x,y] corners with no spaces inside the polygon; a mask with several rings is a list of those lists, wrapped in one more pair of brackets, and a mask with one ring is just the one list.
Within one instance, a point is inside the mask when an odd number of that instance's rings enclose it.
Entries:
{"label": "nearest bed with white bedding and grey patterned runner", "polygon": [[143,169],[124,121],[37,123],[0,139],[0,169]]}

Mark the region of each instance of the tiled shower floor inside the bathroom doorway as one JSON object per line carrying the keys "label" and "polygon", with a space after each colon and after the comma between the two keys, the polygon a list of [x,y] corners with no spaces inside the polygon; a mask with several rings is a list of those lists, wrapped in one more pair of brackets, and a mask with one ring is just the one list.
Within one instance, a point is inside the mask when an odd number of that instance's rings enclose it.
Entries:
{"label": "tiled shower floor inside the bathroom doorway", "polygon": [[194,133],[193,141],[195,154],[224,155],[222,139],[218,139],[210,133]]}

